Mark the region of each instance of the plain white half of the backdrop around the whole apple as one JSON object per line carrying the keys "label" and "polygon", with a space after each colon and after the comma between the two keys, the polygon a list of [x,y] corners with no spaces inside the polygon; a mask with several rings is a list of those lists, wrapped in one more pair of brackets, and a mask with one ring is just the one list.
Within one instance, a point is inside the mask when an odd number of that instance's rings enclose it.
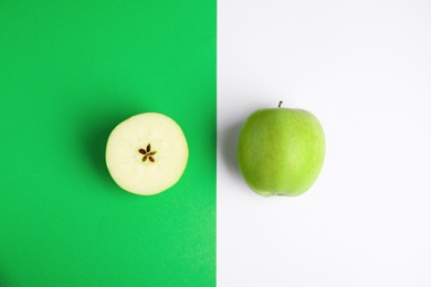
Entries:
{"label": "plain white half of the backdrop around the whole apple", "polygon": [[[297,198],[239,173],[254,109],[314,113]],[[218,286],[431,286],[431,1],[218,1]]]}

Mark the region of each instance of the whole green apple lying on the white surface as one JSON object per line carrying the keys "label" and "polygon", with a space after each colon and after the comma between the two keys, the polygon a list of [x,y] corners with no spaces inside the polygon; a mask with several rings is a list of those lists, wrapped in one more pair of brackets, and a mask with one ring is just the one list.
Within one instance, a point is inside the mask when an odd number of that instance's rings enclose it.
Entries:
{"label": "whole green apple lying on the white surface", "polygon": [[245,182],[257,194],[299,195],[322,170],[324,130],[304,109],[259,109],[241,129],[236,155]]}

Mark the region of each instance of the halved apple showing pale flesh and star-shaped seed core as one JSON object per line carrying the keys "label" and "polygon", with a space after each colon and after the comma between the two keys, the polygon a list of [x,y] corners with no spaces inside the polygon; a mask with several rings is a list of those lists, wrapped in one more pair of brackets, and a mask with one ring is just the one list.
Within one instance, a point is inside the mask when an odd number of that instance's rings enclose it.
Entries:
{"label": "halved apple showing pale flesh and star-shaped seed core", "polygon": [[124,190],[153,195],[181,178],[189,149],[180,126],[158,113],[133,116],[118,124],[106,145],[106,166]]}

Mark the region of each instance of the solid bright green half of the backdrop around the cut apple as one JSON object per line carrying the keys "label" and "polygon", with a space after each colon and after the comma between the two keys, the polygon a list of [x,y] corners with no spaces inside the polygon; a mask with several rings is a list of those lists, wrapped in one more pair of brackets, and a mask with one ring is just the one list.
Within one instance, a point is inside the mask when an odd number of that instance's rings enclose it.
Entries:
{"label": "solid bright green half of the backdrop around the cut apple", "polygon": [[[0,0],[0,286],[216,285],[216,0]],[[174,118],[168,191],[111,179],[125,118]]]}

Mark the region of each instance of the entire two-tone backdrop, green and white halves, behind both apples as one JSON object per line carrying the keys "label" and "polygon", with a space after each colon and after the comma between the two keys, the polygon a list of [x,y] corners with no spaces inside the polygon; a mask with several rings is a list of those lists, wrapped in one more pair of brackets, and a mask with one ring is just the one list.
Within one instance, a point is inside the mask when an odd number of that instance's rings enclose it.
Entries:
{"label": "entire two-tone backdrop, green and white halves, behind both apples", "polygon": [[[0,286],[430,286],[430,51],[419,0],[0,0]],[[280,99],[327,156],[264,199],[236,139]],[[149,198],[104,162],[145,111],[190,148]]]}

